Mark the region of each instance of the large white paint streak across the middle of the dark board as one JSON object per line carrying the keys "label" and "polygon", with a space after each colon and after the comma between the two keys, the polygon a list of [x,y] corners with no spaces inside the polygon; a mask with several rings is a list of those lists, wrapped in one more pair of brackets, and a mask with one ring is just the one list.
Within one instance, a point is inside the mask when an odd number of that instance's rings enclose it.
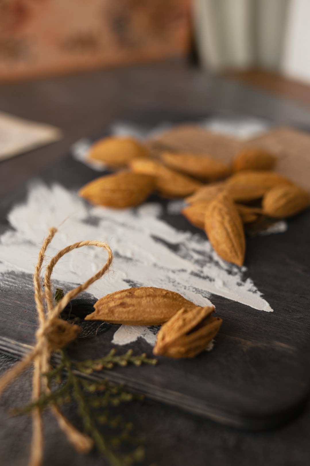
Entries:
{"label": "large white paint streak across the middle of the dark board", "polygon": [[[13,229],[0,237],[0,274],[9,271],[33,274],[42,239],[48,228],[59,233],[48,250],[50,257],[59,249],[79,240],[102,240],[115,256],[113,270],[94,283],[89,292],[96,298],[129,286],[153,286],[184,295],[197,305],[210,304],[209,297],[224,296],[252,308],[272,311],[250,278],[246,268],[228,264],[199,234],[179,231],[159,218],[162,207],[145,204],[136,209],[113,210],[89,206],[59,185],[33,185],[24,204],[13,207],[8,221]],[[53,273],[55,282],[81,283],[106,261],[106,253],[95,247],[75,250],[62,258]],[[69,285],[70,284],[70,285]],[[134,341],[138,335],[154,342],[144,327],[121,327],[115,343]]]}

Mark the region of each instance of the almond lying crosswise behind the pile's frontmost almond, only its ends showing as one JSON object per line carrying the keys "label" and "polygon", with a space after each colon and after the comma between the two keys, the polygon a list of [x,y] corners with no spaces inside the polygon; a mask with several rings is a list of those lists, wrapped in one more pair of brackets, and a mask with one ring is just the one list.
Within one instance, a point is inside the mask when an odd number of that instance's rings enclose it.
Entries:
{"label": "almond lying crosswise behind the pile's frontmost almond, only its ends showing", "polygon": [[[192,225],[204,229],[205,212],[208,205],[209,202],[195,202],[182,209],[182,213]],[[236,207],[243,223],[255,222],[263,214],[262,209],[257,207],[242,206],[241,204],[236,204]]]}

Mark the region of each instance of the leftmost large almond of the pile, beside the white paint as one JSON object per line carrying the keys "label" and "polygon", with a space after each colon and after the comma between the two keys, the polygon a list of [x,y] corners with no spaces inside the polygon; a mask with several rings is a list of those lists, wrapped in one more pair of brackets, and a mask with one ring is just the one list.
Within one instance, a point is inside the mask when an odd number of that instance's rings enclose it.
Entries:
{"label": "leftmost large almond of the pile, beside the white paint", "polygon": [[79,190],[79,195],[92,204],[121,209],[141,204],[154,186],[152,176],[123,172],[91,181]]}

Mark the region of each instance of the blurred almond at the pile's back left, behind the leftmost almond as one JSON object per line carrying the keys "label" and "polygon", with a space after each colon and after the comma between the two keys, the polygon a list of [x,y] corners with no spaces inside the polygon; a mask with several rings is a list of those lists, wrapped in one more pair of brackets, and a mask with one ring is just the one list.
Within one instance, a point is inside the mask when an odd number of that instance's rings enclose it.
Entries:
{"label": "blurred almond at the pile's back left, behind the leftmost almond", "polygon": [[107,165],[125,167],[135,158],[148,157],[148,151],[135,139],[106,137],[92,145],[88,157]]}

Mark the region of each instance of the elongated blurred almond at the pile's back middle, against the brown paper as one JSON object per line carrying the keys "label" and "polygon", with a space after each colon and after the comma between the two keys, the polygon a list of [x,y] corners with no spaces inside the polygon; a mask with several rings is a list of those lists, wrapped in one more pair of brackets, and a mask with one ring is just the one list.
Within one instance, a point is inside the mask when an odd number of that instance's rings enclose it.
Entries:
{"label": "elongated blurred almond at the pile's back middle, against the brown paper", "polygon": [[204,155],[164,152],[161,159],[175,170],[204,180],[226,178],[231,173],[230,167],[223,162]]}

